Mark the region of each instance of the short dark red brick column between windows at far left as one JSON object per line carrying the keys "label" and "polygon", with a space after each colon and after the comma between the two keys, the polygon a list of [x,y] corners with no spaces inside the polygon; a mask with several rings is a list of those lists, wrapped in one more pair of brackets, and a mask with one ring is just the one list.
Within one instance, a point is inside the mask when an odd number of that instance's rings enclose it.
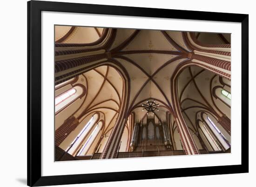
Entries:
{"label": "short dark red brick column between windows at far left", "polygon": [[79,121],[73,115],[67,118],[61,127],[55,130],[55,145],[59,146],[61,142],[64,141],[72,131],[74,131],[78,124]]}

